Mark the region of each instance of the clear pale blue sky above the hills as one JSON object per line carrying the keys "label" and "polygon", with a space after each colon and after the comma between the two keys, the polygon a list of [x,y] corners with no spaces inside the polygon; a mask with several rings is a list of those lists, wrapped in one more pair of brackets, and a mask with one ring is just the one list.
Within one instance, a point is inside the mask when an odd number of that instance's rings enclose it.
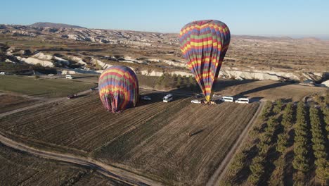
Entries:
{"label": "clear pale blue sky above the hills", "polygon": [[221,20],[233,35],[329,38],[329,0],[1,0],[0,23],[53,22],[89,28],[179,32]]}

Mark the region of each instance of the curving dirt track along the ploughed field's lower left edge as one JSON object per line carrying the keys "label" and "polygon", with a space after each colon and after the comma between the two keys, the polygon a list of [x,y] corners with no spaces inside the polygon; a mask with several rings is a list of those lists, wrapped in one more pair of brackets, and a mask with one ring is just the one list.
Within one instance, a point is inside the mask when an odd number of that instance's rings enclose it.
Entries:
{"label": "curving dirt track along the ploughed field's lower left edge", "polygon": [[0,133],[0,142],[7,147],[17,149],[19,151],[25,151],[36,156],[41,156],[46,159],[54,159],[57,161],[64,161],[67,163],[74,163],[80,166],[88,167],[93,170],[98,171],[99,173],[112,178],[115,180],[120,180],[126,182],[129,185],[161,185],[158,182],[150,180],[148,178],[143,178],[140,175],[124,171],[120,168],[115,168],[113,166],[106,165],[100,161],[93,159],[87,159],[81,156],[75,156],[72,154],[59,154],[53,151],[44,151],[39,149],[34,149],[20,142],[15,142]]}

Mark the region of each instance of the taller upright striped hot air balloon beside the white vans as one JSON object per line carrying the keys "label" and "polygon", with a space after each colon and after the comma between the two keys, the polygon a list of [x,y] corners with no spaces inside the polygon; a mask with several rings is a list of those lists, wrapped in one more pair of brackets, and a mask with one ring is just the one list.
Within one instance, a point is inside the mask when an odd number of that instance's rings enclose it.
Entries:
{"label": "taller upright striped hot air balloon beside the white vans", "polygon": [[212,99],[212,85],[219,75],[230,39],[230,30],[219,20],[193,21],[181,29],[179,42],[183,57],[207,101]]}

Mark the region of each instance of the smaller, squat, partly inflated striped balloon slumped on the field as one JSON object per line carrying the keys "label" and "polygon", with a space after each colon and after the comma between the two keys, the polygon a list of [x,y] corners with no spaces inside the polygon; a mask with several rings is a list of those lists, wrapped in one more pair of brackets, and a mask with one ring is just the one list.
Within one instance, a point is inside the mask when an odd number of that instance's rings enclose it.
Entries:
{"label": "smaller, squat, partly inflated striped balloon slumped on the field", "polygon": [[99,77],[98,91],[105,109],[113,113],[136,106],[139,94],[136,74],[127,66],[111,66]]}

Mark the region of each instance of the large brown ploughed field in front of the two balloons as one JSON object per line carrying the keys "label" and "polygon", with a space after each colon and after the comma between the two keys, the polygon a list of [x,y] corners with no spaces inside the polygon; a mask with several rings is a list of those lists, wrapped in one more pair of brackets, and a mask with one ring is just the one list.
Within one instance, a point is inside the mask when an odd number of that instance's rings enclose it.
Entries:
{"label": "large brown ploughed field in front of the two balloons", "polygon": [[119,114],[105,111],[92,93],[5,116],[0,129],[25,144],[92,156],[166,185],[205,185],[259,106],[194,105],[186,96],[163,103],[164,93],[143,94],[153,101]]}

